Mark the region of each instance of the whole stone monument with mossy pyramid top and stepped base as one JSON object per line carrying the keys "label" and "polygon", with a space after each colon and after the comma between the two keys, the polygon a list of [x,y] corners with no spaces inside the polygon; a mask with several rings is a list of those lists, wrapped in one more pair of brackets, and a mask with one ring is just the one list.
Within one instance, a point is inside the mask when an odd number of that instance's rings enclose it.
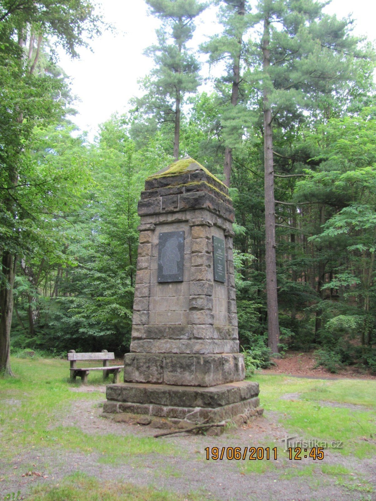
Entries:
{"label": "whole stone monument with mossy pyramid top and stepped base", "polygon": [[146,179],[138,214],[132,342],[103,411],[175,423],[261,414],[258,383],[243,381],[228,188],[185,157]]}

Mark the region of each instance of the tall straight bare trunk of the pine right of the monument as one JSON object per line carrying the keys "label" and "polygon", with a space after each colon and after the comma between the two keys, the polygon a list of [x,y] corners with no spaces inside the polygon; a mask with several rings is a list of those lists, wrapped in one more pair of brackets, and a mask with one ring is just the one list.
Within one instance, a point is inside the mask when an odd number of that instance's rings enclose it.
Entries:
{"label": "tall straight bare trunk of the pine right of the monument", "polygon": [[263,70],[263,103],[264,103],[264,162],[265,162],[265,265],[266,265],[266,302],[268,309],[268,346],[273,353],[278,353],[279,323],[277,298],[277,265],[275,240],[275,199],[274,199],[274,167],[272,111],[270,105],[269,82],[267,81],[270,66],[270,21],[264,19],[262,52],[264,55]]}

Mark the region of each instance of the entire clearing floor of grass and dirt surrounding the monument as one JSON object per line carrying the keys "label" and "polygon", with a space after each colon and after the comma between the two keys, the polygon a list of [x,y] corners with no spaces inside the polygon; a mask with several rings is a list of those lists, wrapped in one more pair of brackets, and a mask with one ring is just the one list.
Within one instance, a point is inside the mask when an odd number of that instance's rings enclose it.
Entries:
{"label": "entire clearing floor of grass and dirt surrounding the monument", "polygon": [[[153,438],[158,430],[101,417],[105,386],[93,373],[84,387],[69,382],[66,361],[12,364],[17,378],[0,380],[1,501],[376,499],[372,379],[265,371],[252,378],[260,383],[262,417],[219,437]],[[312,444],[307,453],[303,444],[290,460],[286,436],[326,441],[323,459],[309,457]],[[225,448],[222,460],[213,447]],[[240,447],[242,459],[227,459],[229,447]],[[250,447],[260,447],[264,459],[250,460]]]}

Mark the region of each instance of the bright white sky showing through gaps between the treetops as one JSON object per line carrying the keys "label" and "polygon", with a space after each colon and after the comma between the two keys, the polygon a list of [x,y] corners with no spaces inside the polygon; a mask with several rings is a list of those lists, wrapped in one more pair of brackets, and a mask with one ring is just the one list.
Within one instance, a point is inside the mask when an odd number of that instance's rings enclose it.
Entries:
{"label": "bright white sky showing through gaps between the treetops", "polygon": [[[72,93],[81,100],[75,106],[79,114],[74,122],[89,132],[89,139],[95,135],[98,124],[116,111],[125,112],[129,99],[138,94],[137,80],[145,76],[153,64],[142,52],[155,43],[154,30],[158,27],[158,20],[147,15],[144,0],[102,0],[101,3],[106,21],[114,25],[118,33],[105,32],[91,41],[93,52],[80,49],[80,60],[71,60],[65,54],[60,58],[61,67],[71,77]],[[376,6],[373,2],[332,0],[325,11],[338,18],[352,14],[356,20],[354,34],[374,40]],[[200,18],[193,40],[196,44],[219,32],[213,10],[205,11]]]}

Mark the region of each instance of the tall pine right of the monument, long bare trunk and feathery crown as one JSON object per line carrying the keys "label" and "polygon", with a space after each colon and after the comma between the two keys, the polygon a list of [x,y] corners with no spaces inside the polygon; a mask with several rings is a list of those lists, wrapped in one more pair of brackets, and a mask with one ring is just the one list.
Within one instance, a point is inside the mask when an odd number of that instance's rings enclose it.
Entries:
{"label": "tall pine right of the monument, long bare trunk and feathery crown", "polygon": [[316,110],[320,98],[354,78],[357,40],[349,36],[350,21],[323,14],[324,6],[314,0],[260,0],[253,15],[254,33],[259,30],[262,37],[250,42],[249,83],[263,96],[268,344],[273,353],[279,343],[273,131],[283,135],[307,120],[306,110]]}

